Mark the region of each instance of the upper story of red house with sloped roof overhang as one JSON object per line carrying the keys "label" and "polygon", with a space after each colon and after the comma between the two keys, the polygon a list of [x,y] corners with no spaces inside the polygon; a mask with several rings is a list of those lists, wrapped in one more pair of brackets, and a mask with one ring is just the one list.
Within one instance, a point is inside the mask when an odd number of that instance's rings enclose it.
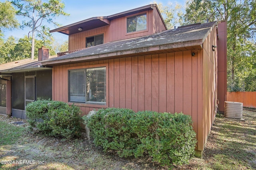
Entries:
{"label": "upper story of red house with sloped roof overhang", "polygon": [[157,5],[151,4],[111,16],[89,18],[53,29],[50,33],[68,35],[69,51],[58,53],[58,56],[62,56],[87,47],[152,35],[166,29]]}

